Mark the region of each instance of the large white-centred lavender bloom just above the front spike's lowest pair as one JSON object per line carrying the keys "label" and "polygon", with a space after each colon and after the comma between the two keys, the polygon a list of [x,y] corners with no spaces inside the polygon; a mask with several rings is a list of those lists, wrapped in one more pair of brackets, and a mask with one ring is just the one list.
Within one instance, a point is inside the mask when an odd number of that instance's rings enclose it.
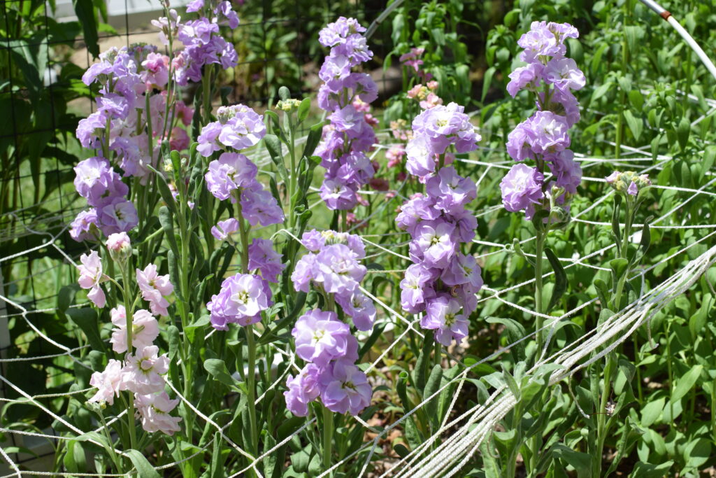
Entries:
{"label": "large white-centred lavender bloom just above the front spike's lowest pair", "polygon": [[357,350],[357,345],[352,344],[356,339],[348,325],[338,320],[336,312],[309,310],[296,320],[291,335],[296,340],[296,355],[319,367],[339,358],[358,358],[357,354],[347,357],[353,349]]}

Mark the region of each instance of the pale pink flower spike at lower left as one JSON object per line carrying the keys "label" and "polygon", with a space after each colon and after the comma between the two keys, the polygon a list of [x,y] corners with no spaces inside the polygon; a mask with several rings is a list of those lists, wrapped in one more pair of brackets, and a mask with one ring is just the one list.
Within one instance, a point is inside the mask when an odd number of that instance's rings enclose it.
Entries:
{"label": "pale pink flower spike at lower left", "polygon": [[[128,242],[126,236],[113,236],[107,241],[107,247],[108,249],[124,248],[125,242]],[[89,294],[95,296],[90,297],[92,302],[95,302],[97,307],[104,307],[104,292],[99,287],[102,278],[100,257],[97,252],[92,251],[89,257],[83,255],[81,259],[79,285],[83,288],[92,287],[92,292]],[[140,273],[142,272],[137,269],[137,276]],[[144,274],[147,274],[149,279],[148,283],[140,282],[142,295],[149,290],[163,295],[168,295],[173,291],[168,276],[158,277],[153,264],[145,269]],[[98,297],[100,295],[101,300]],[[164,297],[159,297],[166,302]],[[89,398],[89,401],[98,402],[102,406],[105,403],[112,405],[115,396],[119,396],[121,391],[130,391],[135,394],[142,427],[146,431],[163,431],[165,434],[171,435],[180,430],[178,424],[181,419],[169,414],[179,401],[170,400],[164,391],[163,376],[169,370],[169,358],[166,354],[159,355],[158,346],[153,344],[159,336],[159,323],[153,315],[155,304],[151,303],[153,305],[152,312],[143,309],[135,310],[131,322],[127,320],[125,306],[118,305],[110,311],[110,318],[115,326],[112,329],[112,338],[110,338],[112,350],[116,353],[126,353],[126,355],[124,360],[108,360],[104,371],[92,373],[89,384],[96,387],[97,392]],[[127,330],[127,327],[130,330]],[[131,340],[131,347],[127,343],[127,338]]]}

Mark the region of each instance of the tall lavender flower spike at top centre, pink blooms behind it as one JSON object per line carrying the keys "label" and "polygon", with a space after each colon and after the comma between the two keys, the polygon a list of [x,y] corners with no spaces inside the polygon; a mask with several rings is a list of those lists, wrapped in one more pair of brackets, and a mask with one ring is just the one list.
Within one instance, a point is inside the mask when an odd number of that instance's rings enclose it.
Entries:
{"label": "tall lavender flower spike at top centre, pink blooms behind it", "polygon": [[342,16],[319,34],[321,45],[331,48],[319,72],[324,83],[318,93],[330,123],[316,148],[326,168],[321,199],[329,209],[353,209],[358,189],[375,173],[365,153],[375,143],[377,122],[367,113],[367,103],[377,98],[378,87],[366,73],[352,71],[373,57],[362,32],[365,28],[356,19]]}

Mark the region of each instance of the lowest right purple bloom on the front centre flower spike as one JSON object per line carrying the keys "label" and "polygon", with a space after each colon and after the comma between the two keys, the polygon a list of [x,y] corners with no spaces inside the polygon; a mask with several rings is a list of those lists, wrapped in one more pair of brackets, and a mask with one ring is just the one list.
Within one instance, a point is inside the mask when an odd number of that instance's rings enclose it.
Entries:
{"label": "lowest right purple bloom on the front centre flower spike", "polygon": [[326,367],[319,376],[321,401],[337,414],[359,414],[370,405],[373,395],[365,373],[346,360]]}

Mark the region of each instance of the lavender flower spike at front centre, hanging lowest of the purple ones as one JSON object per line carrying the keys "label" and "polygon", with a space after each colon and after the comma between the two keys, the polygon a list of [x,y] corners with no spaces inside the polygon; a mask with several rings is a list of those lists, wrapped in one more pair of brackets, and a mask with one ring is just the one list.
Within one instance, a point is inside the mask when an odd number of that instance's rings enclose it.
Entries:
{"label": "lavender flower spike at front centre, hanging lowest of the purple ones", "polygon": [[[370,330],[376,310],[359,287],[367,269],[359,264],[365,249],[359,236],[335,231],[304,233],[301,244],[309,253],[301,257],[291,275],[296,290],[309,292],[313,285],[334,300],[358,330]],[[355,365],[358,341],[349,325],[336,312],[314,309],[299,317],[291,331],[296,355],[306,361],[304,368],[286,381],[286,406],[296,416],[308,414],[316,398],[331,411],[358,414],[370,404],[372,388]]]}

